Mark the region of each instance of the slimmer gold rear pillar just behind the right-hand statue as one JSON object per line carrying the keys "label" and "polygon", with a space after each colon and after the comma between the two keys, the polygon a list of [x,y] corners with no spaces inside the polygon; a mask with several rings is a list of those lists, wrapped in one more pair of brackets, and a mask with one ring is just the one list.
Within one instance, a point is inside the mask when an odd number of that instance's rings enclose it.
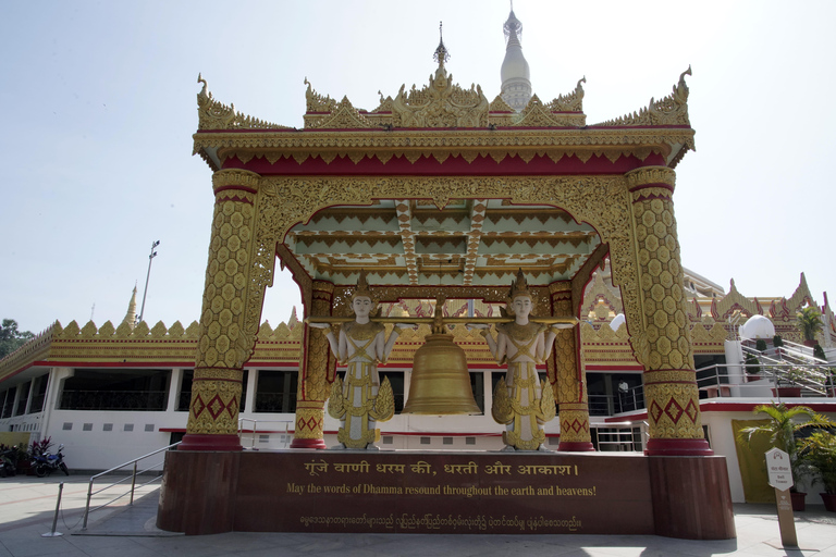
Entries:
{"label": "slimmer gold rear pillar just behind the right-hand statue", "polygon": [[[552,314],[555,317],[575,315],[569,283],[549,285],[552,301]],[[578,358],[579,327],[561,329],[554,339],[555,382],[554,399],[560,409],[561,444],[557,450],[594,450],[589,431],[589,403],[587,400],[587,379],[580,369]]]}

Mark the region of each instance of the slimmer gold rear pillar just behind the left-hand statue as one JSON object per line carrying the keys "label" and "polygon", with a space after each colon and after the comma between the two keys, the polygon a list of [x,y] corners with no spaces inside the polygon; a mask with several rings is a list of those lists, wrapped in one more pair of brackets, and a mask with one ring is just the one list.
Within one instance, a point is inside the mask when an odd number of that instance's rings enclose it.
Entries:
{"label": "slimmer gold rear pillar just behind the left-hand statue", "polygon": [[[330,315],[334,285],[314,281],[308,315]],[[305,323],[303,367],[296,389],[296,428],[291,448],[325,448],[325,400],[334,381],[335,359],[322,330]]]}

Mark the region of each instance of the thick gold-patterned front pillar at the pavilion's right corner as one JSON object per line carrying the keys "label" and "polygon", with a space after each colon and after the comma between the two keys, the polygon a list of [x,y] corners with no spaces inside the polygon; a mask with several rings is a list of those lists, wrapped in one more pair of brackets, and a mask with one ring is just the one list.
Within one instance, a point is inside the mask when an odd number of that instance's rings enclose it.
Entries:
{"label": "thick gold-patterned front pillar at the pavilion's right corner", "polygon": [[[630,342],[644,368],[648,455],[712,455],[702,432],[693,351],[685,311],[674,219],[675,173],[646,166],[627,173],[632,203],[639,315],[627,315]],[[630,293],[626,293],[630,296]],[[639,321],[631,323],[630,318]]]}

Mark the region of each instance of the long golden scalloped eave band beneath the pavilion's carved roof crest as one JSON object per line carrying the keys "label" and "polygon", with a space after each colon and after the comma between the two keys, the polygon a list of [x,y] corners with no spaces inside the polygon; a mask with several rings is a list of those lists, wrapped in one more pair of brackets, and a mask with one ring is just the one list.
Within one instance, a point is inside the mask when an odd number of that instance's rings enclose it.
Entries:
{"label": "long golden scalloped eave band beneath the pavilion's carved roof crest", "polygon": [[213,170],[228,157],[247,162],[266,157],[271,163],[280,158],[294,158],[302,163],[319,157],[330,163],[336,157],[355,162],[362,157],[378,158],[384,164],[392,157],[463,157],[472,162],[490,156],[496,162],[506,157],[520,157],[528,162],[534,156],[554,161],[577,156],[581,161],[591,156],[616,160],[635,154],[640,159],[661,153],[668,163],[678,162],[687,150],[694,150],[694,131],[687,126],[595,127],[585,128],[496,128],[496,129],[339,129],[339,131],[218,131],[194,134],[194,152]]}

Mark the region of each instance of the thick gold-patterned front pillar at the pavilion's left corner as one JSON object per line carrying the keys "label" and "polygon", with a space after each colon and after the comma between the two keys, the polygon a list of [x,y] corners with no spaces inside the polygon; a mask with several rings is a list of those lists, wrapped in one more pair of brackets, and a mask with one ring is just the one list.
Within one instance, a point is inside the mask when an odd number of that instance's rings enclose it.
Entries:
{"label": "thick gold-patterned front pillar at the pavilion's left corner", "polygon": [[212,176],[212,237],[181,450],[242,448],[237,434],[242,370],[255,347],[265,285],[272,272],[272,267],[256,265],[258,184],[258,174],[247,171],[225,170]]}

